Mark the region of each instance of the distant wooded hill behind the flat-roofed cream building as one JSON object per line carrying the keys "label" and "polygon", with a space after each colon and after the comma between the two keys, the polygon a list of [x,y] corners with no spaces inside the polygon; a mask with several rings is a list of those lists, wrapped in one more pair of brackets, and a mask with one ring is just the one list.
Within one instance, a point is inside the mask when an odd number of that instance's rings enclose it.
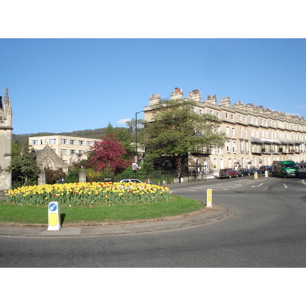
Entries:
{"label": "distant wooded hill behind the flat-roofed cream building", "polygon": [[[101,129],[95,130],[83,130],[83,131],[73,131],[73,132],[63,132],[63,133],[36,133],[36,134],[12,134],[12,140],[20,145],[28,143],[29,137],[35,136],[50,136],[50,135],[63,135],[63,136],[75,136],[75,137],[84,137],[84,138],[94,138],[100,139],[105,136],[106,127],[102,127]],[[128,127],[113,127],[114,133],[117,130],[130,130]]]}

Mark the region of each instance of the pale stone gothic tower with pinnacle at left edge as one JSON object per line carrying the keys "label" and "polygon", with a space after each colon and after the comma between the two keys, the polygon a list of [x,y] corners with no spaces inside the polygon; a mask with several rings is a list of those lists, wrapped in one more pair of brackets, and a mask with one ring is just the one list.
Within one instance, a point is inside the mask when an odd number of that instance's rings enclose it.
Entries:
{"label": "pale stone gothic tower with pinnacle at left edge", "polygon": [[0,96],[0,198],[4,196],[4,190],[11,189],[12,175],[4,169],[10,166],[12,161],[12,107],[9,100],[8,88],[5,96]]}

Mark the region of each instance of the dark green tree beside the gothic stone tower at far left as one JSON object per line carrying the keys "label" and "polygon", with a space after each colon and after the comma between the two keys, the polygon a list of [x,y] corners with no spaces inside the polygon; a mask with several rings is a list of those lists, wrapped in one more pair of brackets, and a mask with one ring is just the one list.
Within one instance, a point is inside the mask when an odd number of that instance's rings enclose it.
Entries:
{"label": "dark green tree beside the gothic stone tower at far left", "polygon": [[21,147],[19,155],[12,156],[12,162],[5,171],[12,171],[13,174],[16,174],[19,181],[21,180],[22,185],[26,186],[36,182],[39,174],[39,167],[35,159],[35,150],[34,148],[27,144],[24,144]]}

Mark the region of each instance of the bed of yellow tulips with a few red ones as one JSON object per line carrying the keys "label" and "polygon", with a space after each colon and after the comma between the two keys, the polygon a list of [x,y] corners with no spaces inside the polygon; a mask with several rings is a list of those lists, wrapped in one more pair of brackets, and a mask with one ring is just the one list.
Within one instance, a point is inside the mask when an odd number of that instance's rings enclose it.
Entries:
{"label": "bed of yellow tulips with a few red ones", "polygon": [[57,201],[61,206],[133,205],[169,201],[169,188],[135,183],[71,183],[23,186],[6,192],[12,205],[48,205]]}

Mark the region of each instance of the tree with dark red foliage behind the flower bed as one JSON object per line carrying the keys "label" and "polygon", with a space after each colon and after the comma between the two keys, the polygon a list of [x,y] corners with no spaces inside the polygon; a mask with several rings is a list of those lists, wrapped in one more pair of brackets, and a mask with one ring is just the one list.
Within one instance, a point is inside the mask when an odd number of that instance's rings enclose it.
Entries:
{"label": "tree with dark red foliage behind the flower bed", "polygon": [[126,160],[127,152],[114,134],[108,134],[102,140],[95,141],[90,147],[91,154],[88,159],[88,168],[96,171],[109,169],[113,173],[120,173],[132,164],[132,160]]}

